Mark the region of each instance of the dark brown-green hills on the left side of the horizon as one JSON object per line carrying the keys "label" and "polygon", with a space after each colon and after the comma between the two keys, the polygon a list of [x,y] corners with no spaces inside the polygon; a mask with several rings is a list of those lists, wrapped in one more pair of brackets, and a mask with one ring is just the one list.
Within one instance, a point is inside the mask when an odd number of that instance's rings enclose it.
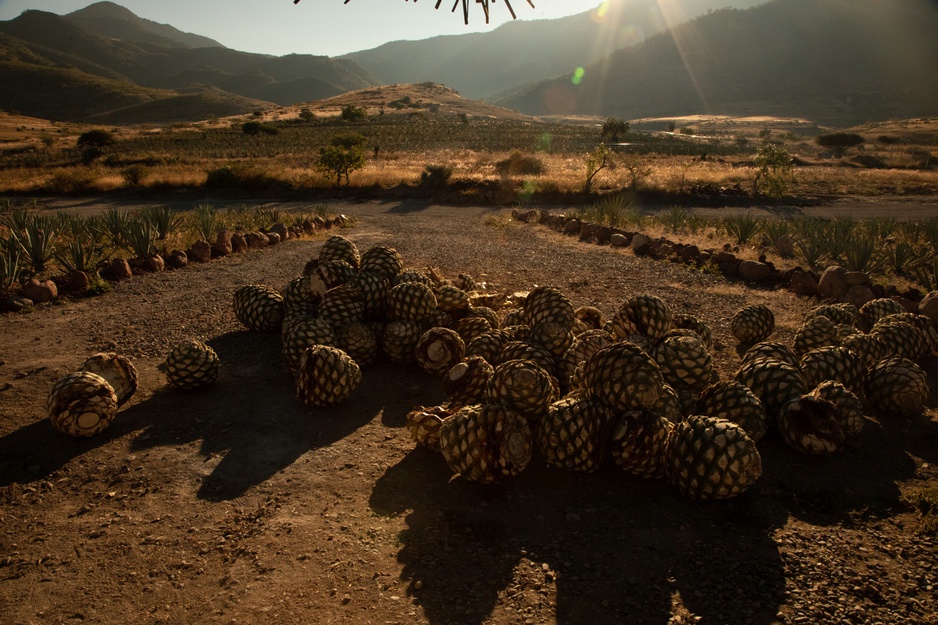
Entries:
{"label": "dark brown-green hills on the left side of the horizon", "polygon": [[[104,16],[101,22],[96,15]],[[79,25],[88,20],[107,35]],[[63,121],[101,115],[115,123],[193,120],[328,98],[376,83],[347,60],[252,54],[217,42],[188,47],[206,42],[212,40],[141,20],[110,3],[65,17],[25,11],[0,22],[0,108]]]}

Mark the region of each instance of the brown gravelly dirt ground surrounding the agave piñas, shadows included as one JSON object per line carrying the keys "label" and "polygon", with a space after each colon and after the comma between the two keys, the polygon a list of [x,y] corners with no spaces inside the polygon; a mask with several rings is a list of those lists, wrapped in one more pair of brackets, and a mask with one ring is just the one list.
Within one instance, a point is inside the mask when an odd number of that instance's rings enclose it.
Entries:
{"label": "brown gravelly dirt ground surrounding the agave pi\u00f1as, shadows included", "polygon": [[[713,327],[724,379],[738,365],[733,311],[770,305],[775,338],[790,342],[812,306],[509,223],[503,210],[347,206],[359,223],[345,236],[361,250],[390,244],[409,266],[508,292],[552,284],[607,313],[657,294]],[[414,405],[442,400],[438,380],[376,365],[348,402],[310,411],[279,336],[234,319],[238,286],[284,286],[323,238],[0,317],[0,621],[938,619],[935,539],[901,503],[938,484],[934,393],[925,420],[870,419],[860,445],[834,456],[765,440],[762,481],[730,502],[688,501],[614,467],[574,475],[538,461],[493,487],[450,480],[404,428]],[[190,336],[223,368],[210,389],[179,393],[156,367]],[[69,439],[45,419],[46,394],[102,349],[134,360],[140,390],[101,436]],[[934,361],[929,371],[938,389]]]}

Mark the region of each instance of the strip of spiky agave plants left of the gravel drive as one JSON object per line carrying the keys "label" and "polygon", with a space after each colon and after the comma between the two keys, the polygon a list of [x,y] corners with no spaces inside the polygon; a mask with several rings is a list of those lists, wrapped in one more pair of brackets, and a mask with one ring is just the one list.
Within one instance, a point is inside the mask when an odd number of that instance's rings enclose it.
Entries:
{"label": "strip of spiky agave plants left of the gravel drive", "polygon": [[191,210],[150,206],[110,208],[100,215],[44,214],[34,203],[0,202],[0,295],[14,293],[32,278],[46,279],[75,271],[90,280],[90,291],[106,290],[99,272],[117,257],[129,261],[186,249],[220,230],[251,232],[275,223],[302,224],[324,217],[324,205],[284,210],[235,205],[219,209],[201,204]]}

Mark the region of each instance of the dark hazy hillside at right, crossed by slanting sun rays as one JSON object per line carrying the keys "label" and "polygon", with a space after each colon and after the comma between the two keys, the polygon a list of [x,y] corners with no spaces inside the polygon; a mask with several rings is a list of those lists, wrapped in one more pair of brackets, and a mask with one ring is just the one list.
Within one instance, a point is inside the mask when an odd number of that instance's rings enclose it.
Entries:
{"label": "dark hazy hillside at right, crossed by slanting sun rays", "polygon": [[625,119],[787,115],[846,126],[938,112],[938,8],[774,0],[724,9],[497,99],[525,113]]}

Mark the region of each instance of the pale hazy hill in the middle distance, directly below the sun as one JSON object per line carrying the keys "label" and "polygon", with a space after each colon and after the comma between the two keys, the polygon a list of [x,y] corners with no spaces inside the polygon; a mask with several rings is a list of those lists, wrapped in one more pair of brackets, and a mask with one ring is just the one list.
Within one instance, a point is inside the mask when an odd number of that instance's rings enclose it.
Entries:
{"label": "pale hazy hill in the middle distance, directly below the sun", "polygon": [[340,58],[355,61],[385,84],[433,81],[468,98],[492,98],[569,74],[715,4],[747,8],[765,1],[611,0],[601,16],[588,11],[555,20],[518,20],[488,33],[394,41]]}

